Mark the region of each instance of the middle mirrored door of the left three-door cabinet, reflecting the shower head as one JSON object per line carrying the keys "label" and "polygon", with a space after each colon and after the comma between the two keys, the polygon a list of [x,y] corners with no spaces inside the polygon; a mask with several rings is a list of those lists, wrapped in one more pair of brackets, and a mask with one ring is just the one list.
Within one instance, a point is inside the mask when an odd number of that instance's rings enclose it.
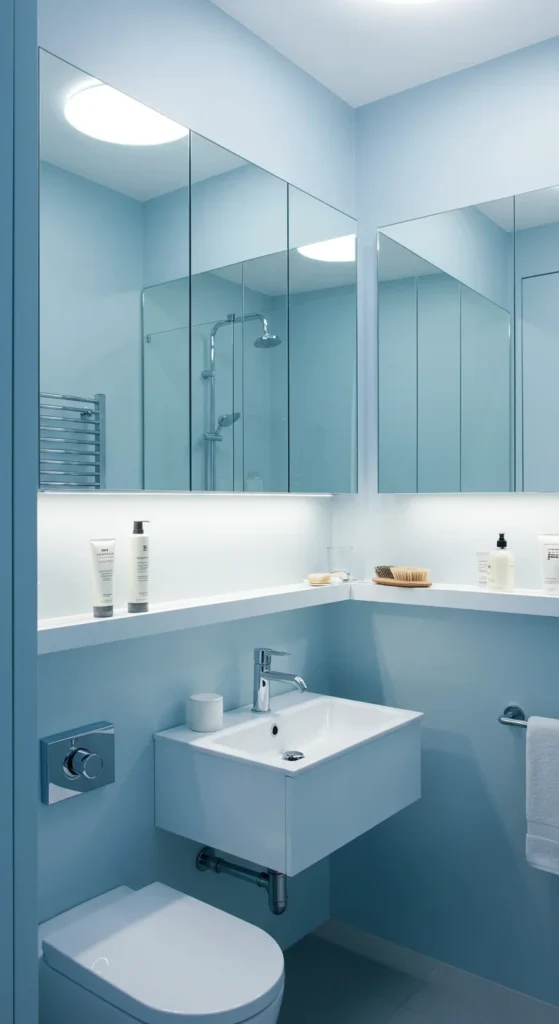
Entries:
{"label": "middle mirrored door of the left three-door cabinet, reflecting the shower head", "polygon": [[191,136],[196,490],[289,489],[288,186]]}

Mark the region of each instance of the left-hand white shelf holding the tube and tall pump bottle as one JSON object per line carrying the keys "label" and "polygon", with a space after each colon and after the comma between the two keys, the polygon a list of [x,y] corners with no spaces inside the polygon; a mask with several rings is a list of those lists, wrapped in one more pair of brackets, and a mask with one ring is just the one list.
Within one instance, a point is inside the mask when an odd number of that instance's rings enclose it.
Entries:
{"label": "left-hand white shelf holding the tube and tall pump bottle", "polygon": [[336,604],[349,600],[349,584],[310,587],[300,583],[287,587],[193,597],[171,604],[155,604],[149,611],[140,614],[130,615],[127,611],[119,610],[113,618],[93,618],[90,614],[43,618],[39,621],[38,651],[39,654],[52,654],[59,650],[74,650],[77,647],[90,647],[117,640],[133,640],[157,633],[174,633],[177,630],[231,623],[255,615],[271,615],[277,611]]}

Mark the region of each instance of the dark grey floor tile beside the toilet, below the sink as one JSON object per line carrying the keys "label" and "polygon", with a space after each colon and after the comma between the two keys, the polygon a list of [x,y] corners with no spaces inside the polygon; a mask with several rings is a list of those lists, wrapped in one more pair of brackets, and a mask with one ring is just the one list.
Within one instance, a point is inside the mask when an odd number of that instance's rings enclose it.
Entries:
{"label": "dark grey floor tile beside the toilet, below the sink", "polygon": [[280,1024],[385,1024],[423,984],[308,936],[286,953]]}

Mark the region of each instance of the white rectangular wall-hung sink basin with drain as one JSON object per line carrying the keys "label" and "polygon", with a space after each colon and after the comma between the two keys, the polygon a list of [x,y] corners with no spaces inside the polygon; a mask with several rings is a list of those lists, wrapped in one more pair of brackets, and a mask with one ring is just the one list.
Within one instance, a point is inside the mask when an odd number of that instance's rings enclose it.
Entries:
{"label": "white rectangular wall-hung sink basin with drain", "polygon": [[227,712],[219,732],[160,732],[156,824],[297,874],[419,799],[421,718],[290,693],[269,715]]}

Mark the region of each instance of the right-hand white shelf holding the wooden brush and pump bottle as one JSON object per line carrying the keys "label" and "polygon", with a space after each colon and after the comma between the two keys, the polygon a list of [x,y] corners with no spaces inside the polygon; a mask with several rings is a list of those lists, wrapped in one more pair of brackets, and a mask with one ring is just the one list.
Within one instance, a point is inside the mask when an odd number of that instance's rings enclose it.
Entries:
{"label": "right-hand white shelf holding the wooden brush and pump bottle", "polygon": [[416,590],[359,582],[351,584],[351,598],[354,601],[372,601],[375,604],[559,617],[559,596],[544,594],[541,590],[515,590],[513,594],[501,594],[461,584],[434,584],[428,589]]}

